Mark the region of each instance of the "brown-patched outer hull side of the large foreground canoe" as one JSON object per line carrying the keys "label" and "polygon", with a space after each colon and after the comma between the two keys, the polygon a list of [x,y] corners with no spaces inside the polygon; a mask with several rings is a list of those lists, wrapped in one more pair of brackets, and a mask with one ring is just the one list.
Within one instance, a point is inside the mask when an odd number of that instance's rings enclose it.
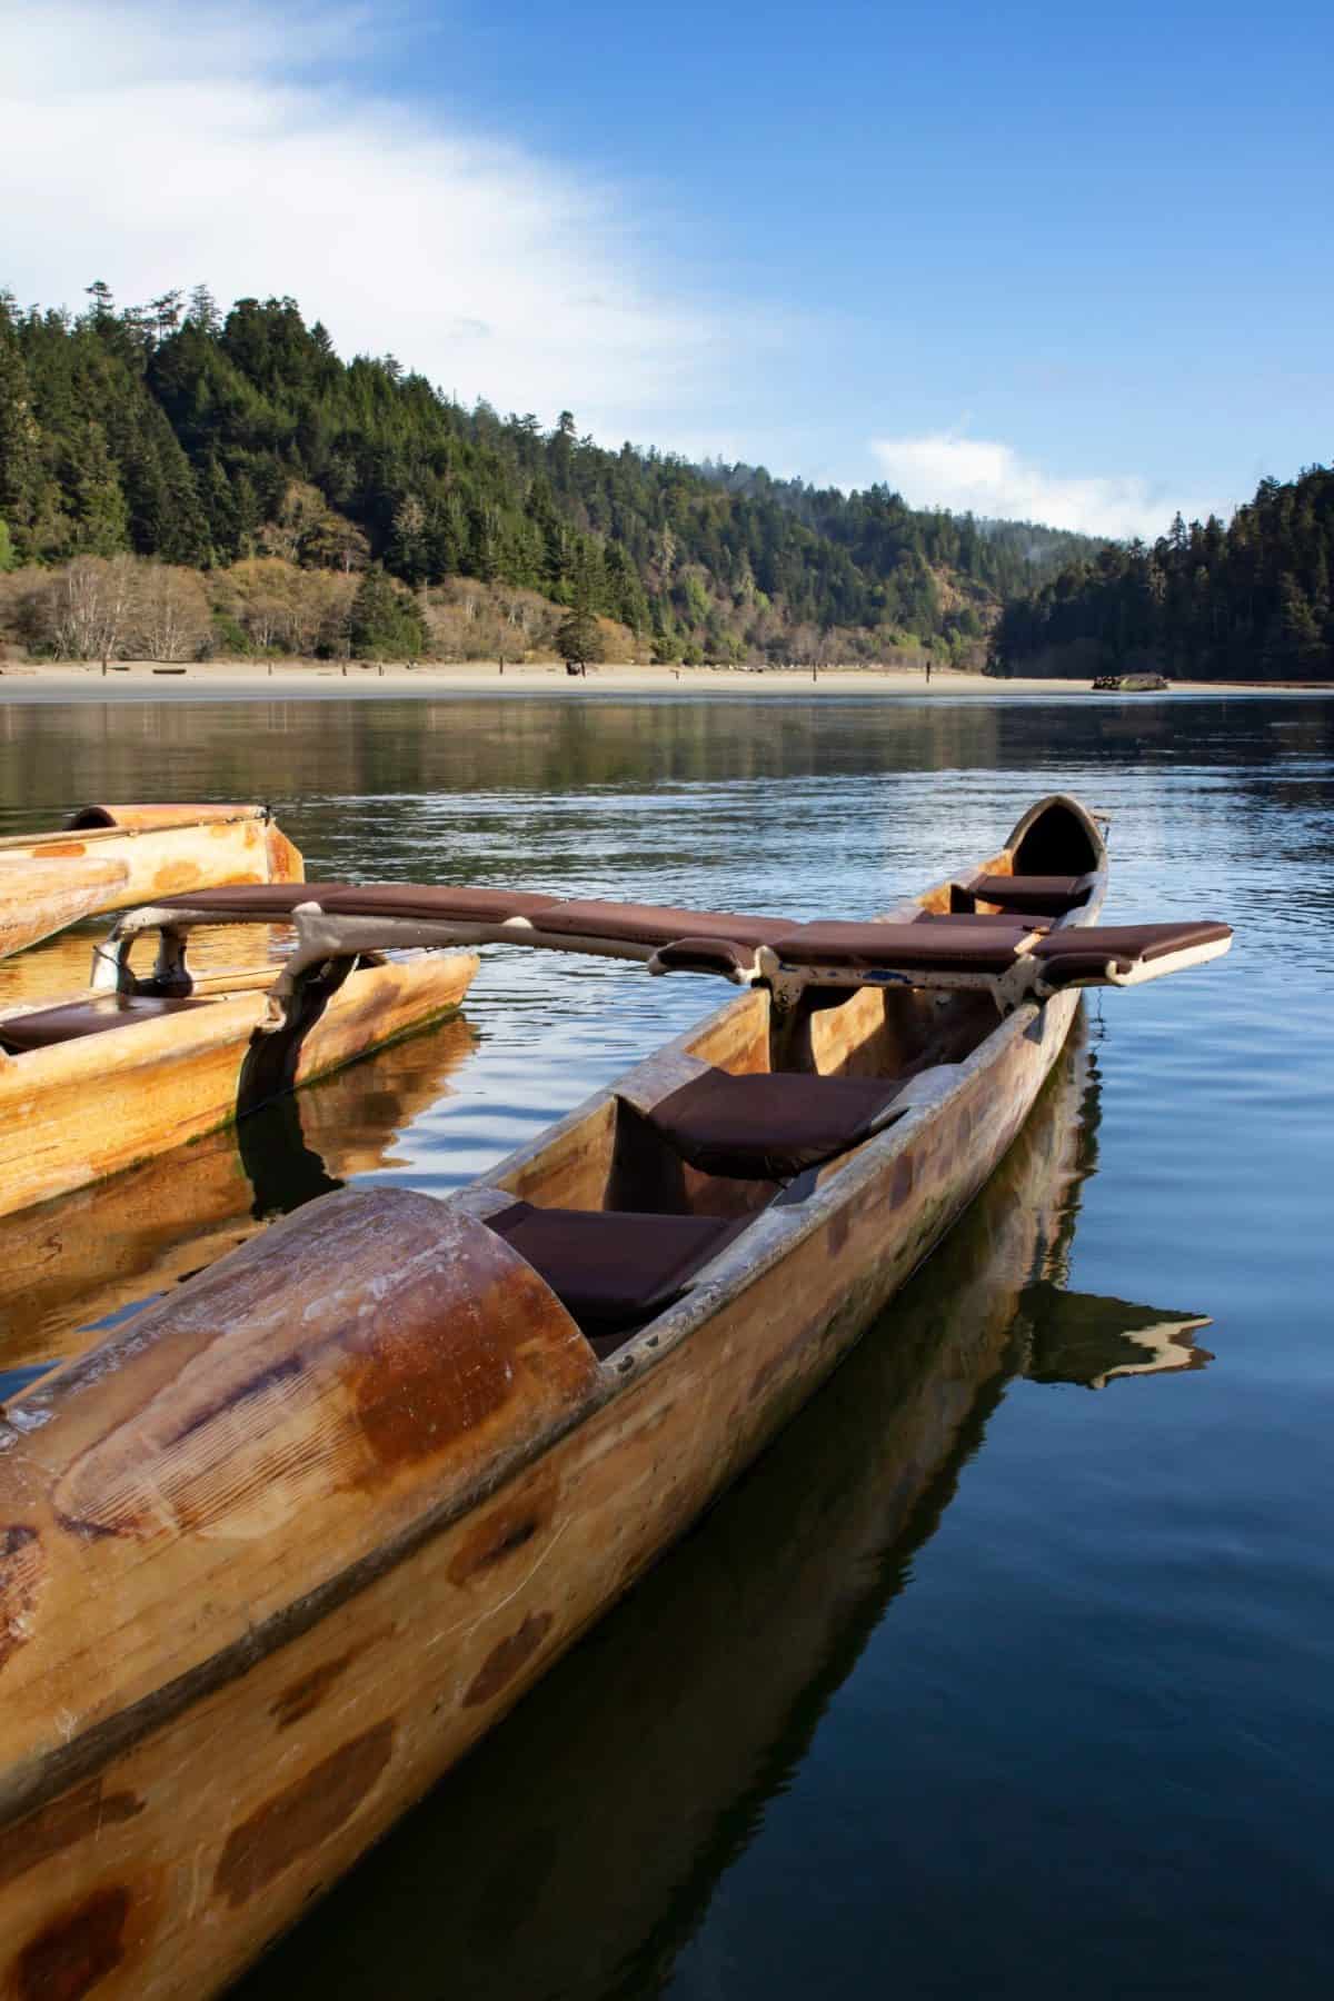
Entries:
{"label": "brown-patched outer hull side of the large foreground canoe", "polygon": [[[708,1057],[742,1045],[766,1007],[762,994],[736,1000],[692,1047]],[[42,1759],[14,1763],[26,1707],[16,1701],[0,1723],[0,1765],[22,1773],[0,1827],[0,1993],[184,2001],[236,1977],[836,1367],[1002,1159],[1074,1007],[1064,994],[1000,1023],[944,1105],[868,1143],[816,1191],[782,1259],[636,1375],[604,1365],[586,1415],[536,1441],[506,1477],[466,1483],[444,1515],[432,1515],[430,1485],[408,1517],[374,1495],[368,1513],[330,1509],[318,1589],[294,1593],[280,1619],[256,1603],[248,1635],[210,1629],[208,1607],[176,1629],[156,1621],[162,1659],[136,1669],[136,1687],[152,1693],[126,1687],[108,1707],[102,1683],[100,1721],[72,1707]],[[0,1471],[0,1483],[14,1475]],[[268,1485],[264,1579],[280,1549],[292,1579],[308,1577],[310,1509],[308,1485]],[[368,1561],[376,1511],[382,1547]],[[226,1515],[210,1523],[218,1563],[228,1535],[246,1533],[258,1531]],[[96,1565],[104,1547],[84,1561]],[[20,1543],[10,1569],[26,1557]],[[10,1603],[22,1589],[16,1573]],[[36,1571],[26,1589],[40,1613]],[[108,1625],[116,1617],[112,1591]],[[4,1681],[0,1667],[0,1693]],[[42,1987],[48,1967],[80,1969],[84,1985]]]}

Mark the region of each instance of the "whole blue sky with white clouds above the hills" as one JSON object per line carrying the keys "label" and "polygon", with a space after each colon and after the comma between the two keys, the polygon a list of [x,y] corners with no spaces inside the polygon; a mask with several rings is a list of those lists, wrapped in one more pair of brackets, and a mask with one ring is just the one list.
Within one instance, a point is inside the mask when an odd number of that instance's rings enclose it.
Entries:
{"label": "whole blue sky with white clouds above the hills", "polygon": [[1332,456],[1332,18],[2,0],[6,276],[290,290],[610,442],[1152,534]]}

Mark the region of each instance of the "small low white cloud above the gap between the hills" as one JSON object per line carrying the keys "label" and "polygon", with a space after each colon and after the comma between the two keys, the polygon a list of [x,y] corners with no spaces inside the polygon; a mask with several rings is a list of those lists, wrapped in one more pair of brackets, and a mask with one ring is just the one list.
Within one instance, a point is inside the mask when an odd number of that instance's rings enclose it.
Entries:
{"label": "small low white cloud above the gap between the hills", "polygon": [[912,506],[1034,520],[1084,534],[1138,534],[1146,542],[1166,534],[1178,508],[1186,520],[1230,514],[1218,500],[1168,492],[1138,474],[1066,478],[1022,458],[1010,444],[956,432],[872,438],[870,448],[890,486]]}

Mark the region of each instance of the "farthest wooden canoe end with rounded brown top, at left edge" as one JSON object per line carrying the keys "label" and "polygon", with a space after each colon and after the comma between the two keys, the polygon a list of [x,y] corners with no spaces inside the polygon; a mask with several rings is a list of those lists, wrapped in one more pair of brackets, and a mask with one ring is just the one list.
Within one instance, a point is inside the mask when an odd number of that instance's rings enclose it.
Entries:
{"label": "farthest wooden canoe end with rounded brown top, at left edge", "polygon": [[0,840],[0,956],[100,910],[302,872],[266,806],[84,806],[58,834]]}

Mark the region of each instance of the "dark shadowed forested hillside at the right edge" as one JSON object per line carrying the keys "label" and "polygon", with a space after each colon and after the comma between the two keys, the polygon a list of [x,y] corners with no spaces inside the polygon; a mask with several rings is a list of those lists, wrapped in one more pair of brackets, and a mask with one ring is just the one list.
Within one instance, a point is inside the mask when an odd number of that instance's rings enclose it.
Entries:
{"label": "dark shadowed forested hillside at the right edge", "polygon": [[1010,602],[1004,674],[1154,666],[1184,680],[1334,678],[1334,470],[1262,480],[1228,528],[1216,516],[1104,548]]}

